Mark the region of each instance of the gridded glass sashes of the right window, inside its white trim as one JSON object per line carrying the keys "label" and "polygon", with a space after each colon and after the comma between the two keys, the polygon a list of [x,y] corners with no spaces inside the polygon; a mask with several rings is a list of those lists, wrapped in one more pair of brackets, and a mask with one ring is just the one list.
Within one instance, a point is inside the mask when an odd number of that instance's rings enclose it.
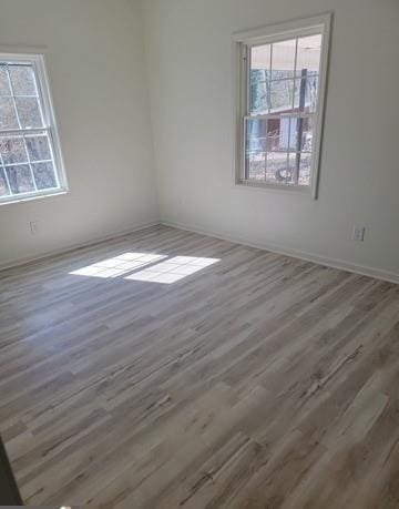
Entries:
{"label": "gridded glass sashes of the right window, inside its white trim", "polygon": [[247,45],[245,181],[310,186],[321,53],[321,32]]}

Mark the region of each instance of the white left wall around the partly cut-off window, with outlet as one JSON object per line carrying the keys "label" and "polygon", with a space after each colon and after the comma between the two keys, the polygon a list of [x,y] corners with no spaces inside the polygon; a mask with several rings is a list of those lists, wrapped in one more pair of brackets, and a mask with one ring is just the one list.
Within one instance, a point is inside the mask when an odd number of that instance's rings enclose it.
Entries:
{"label": "white left wall around the partly cut-off window, with outlet", "polygon": [[4,44],[47,47],[70,192],[0,206],[0,265],[157,221],[140,7],[0,0]]}

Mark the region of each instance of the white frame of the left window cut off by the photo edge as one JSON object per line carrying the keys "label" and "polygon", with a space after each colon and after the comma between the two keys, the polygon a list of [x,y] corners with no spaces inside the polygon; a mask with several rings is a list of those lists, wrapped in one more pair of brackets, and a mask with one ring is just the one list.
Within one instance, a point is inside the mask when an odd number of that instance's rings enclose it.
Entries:
{"label": "white frame of the left window cut off by the photo edge", "polygon": [[[54,196],[59,194],[65,194],[69,191],[65,170],[63,164],[63,157],[61,152],[60,135],[57,128],[57,121],[54,115],[53,102],[50,92],[49,78],[45,68],[45,59],[43,53],[30,53],[28,51],[22,52],[8,52],[2,51],[0,47],[0,61],[8,61],[10,63],[30,63],[33,68],[38,95],[39,106],[43,118],[42,128],[32,129],[11,129],[0,131],[1,135],[23,135],[23,134],[35,134],[47,132],[50,141],[50,150],[52,153],[54,173],[58,183],[58,187],[49,190],[35,190],[27,193],[19,193],[13,195],[6,195],[0,197],[0,205],[7,205],[11,203],[24,202],[28,200],[41,198],[45,196]],[[28,152],[27,152],[28,153]],[[29,159],[29,153],[28,153]]]}

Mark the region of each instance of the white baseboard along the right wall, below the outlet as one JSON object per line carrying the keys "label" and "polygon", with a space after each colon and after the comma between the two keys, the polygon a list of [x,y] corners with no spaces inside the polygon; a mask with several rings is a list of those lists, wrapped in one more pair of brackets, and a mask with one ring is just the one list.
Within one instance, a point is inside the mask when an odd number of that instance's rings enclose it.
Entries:
{"label": "white baseboard along the right wall, below the outlet", "polygon": [[222,232],[211,231],[200,226],[177,223],[170,220],[161,220],[161,224],[165,226],[172,226],[180,230],[185,230],[188,232],[200,233],[202,235],[208,235],[212,237],[221,238],[223,241],[233,242],[236,244],[243,244],[250,247],[256,247],[258,250],[270,251],[273,253],[278,253],[285,256],[291,256],[294,258],[305,259],[307,262],[314,262],[318,265],[325,265],[327,267],[339,268],[341,271],[352,272],[355,274],[360,274],[362,276],[375,277],[377,279],[388,281],[389,283],[399,284],[399,274],[390,271],[385,271],[382,268],[368,267],[366,265],[357,265],[345,259],[329,258],[326,256],[315,255],[313,253],[307,253],[299,250],[287,250],[279,245],[258,243],[254,242],[250,238],[245,238],[243,236],[232,236]]}

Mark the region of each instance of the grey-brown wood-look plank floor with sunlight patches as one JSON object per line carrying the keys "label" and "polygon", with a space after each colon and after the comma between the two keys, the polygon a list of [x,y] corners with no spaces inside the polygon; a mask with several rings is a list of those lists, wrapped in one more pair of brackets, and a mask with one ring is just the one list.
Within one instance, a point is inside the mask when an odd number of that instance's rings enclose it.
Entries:
{"label": "grey-brown wood-look plank floor with sunlight patches", "polygon": [[399,508],[399,286],[161,226],[0,285],[27,505]]}

